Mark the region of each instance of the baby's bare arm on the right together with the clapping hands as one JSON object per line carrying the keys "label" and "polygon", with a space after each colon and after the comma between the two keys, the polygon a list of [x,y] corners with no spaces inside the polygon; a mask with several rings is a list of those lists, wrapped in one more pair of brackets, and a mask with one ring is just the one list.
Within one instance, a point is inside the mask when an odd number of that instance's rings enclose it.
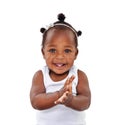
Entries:
{"label": "baby's bare arm on the right together with the clapping hands", "polygon": [[64,104],[75,110],[85,110],[90,105],[91,92],[89,89],[88,79],[84,72],[78,71],[78,85],[77,85],[77,95],[72,95],[72,81],[74,76],[72,76],[67,83],[67,90],[64,94],[55,101],[56,104]]}

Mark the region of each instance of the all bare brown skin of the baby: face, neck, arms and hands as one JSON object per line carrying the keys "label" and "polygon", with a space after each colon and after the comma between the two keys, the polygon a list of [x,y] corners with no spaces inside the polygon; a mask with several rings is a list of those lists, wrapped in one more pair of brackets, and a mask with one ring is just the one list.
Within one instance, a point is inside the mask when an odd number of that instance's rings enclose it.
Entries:
{"label": "all bare brown skin of the baby: face, neck, arms and hands", "polygon": [[[42,54],[49,67],[49,75],[53,81],[67,77],[69,69],[77,58],[74,34],[70,30],[50,30]],[[44,110],[57,104],[62,104],[75,110],[86,110],[90,105],[91,92],[86,74],[78,70],[77,95],[72,95],[72,81],[75,76],[68,78],[59,91],[46,93],[42,71],[37,71],[32,80],[30,100],[33,108]]]}

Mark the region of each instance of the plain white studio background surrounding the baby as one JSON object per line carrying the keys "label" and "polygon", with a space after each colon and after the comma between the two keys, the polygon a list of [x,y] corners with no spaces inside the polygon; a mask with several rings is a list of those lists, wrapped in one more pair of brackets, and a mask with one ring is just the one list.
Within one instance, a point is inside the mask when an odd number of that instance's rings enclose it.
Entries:
{"label": "plain white studio background surrounding the baby", "polygon": [[35,125],[29,91],[44,65],[39,29],[63,12],[77,30],[76,65],[86,72],[92,92],[87,125],[119,125],[119,0],[0,1],[0,125]]}

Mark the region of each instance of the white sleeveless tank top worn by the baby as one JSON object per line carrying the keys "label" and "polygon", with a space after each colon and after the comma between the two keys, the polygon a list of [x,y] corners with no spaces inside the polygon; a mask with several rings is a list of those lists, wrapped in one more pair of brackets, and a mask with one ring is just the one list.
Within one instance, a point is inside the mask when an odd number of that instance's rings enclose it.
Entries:
{"label": "white sleeveless tank top worn by the baby", "polygon": [[[73,66],[68,74],[68,77],[72,75],[75,76],[72,84],[73,95],[76,95],[76,86],[78,84],[77,70],[78,69]],[[60,90],[68,78],[66,77],[61,81],[54,82],[49,76],[49,69],[47,66],[43,67],[42,72],[46,93]],[[62,104],[58,104],[46,110],[37,110],[36,116],[37,125],[85,125],[84,111],[77,111]]]}

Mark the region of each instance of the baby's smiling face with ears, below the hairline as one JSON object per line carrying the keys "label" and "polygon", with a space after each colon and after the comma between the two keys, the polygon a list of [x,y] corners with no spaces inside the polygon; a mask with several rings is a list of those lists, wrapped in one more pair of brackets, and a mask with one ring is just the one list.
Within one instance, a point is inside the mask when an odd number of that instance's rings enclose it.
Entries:
{"label": "baby's smiling face with ears, below the hairline", "polygon": [[42,53],[52,75],[67,74],[78,53],[74,34],[69,30],[49,31]]}

